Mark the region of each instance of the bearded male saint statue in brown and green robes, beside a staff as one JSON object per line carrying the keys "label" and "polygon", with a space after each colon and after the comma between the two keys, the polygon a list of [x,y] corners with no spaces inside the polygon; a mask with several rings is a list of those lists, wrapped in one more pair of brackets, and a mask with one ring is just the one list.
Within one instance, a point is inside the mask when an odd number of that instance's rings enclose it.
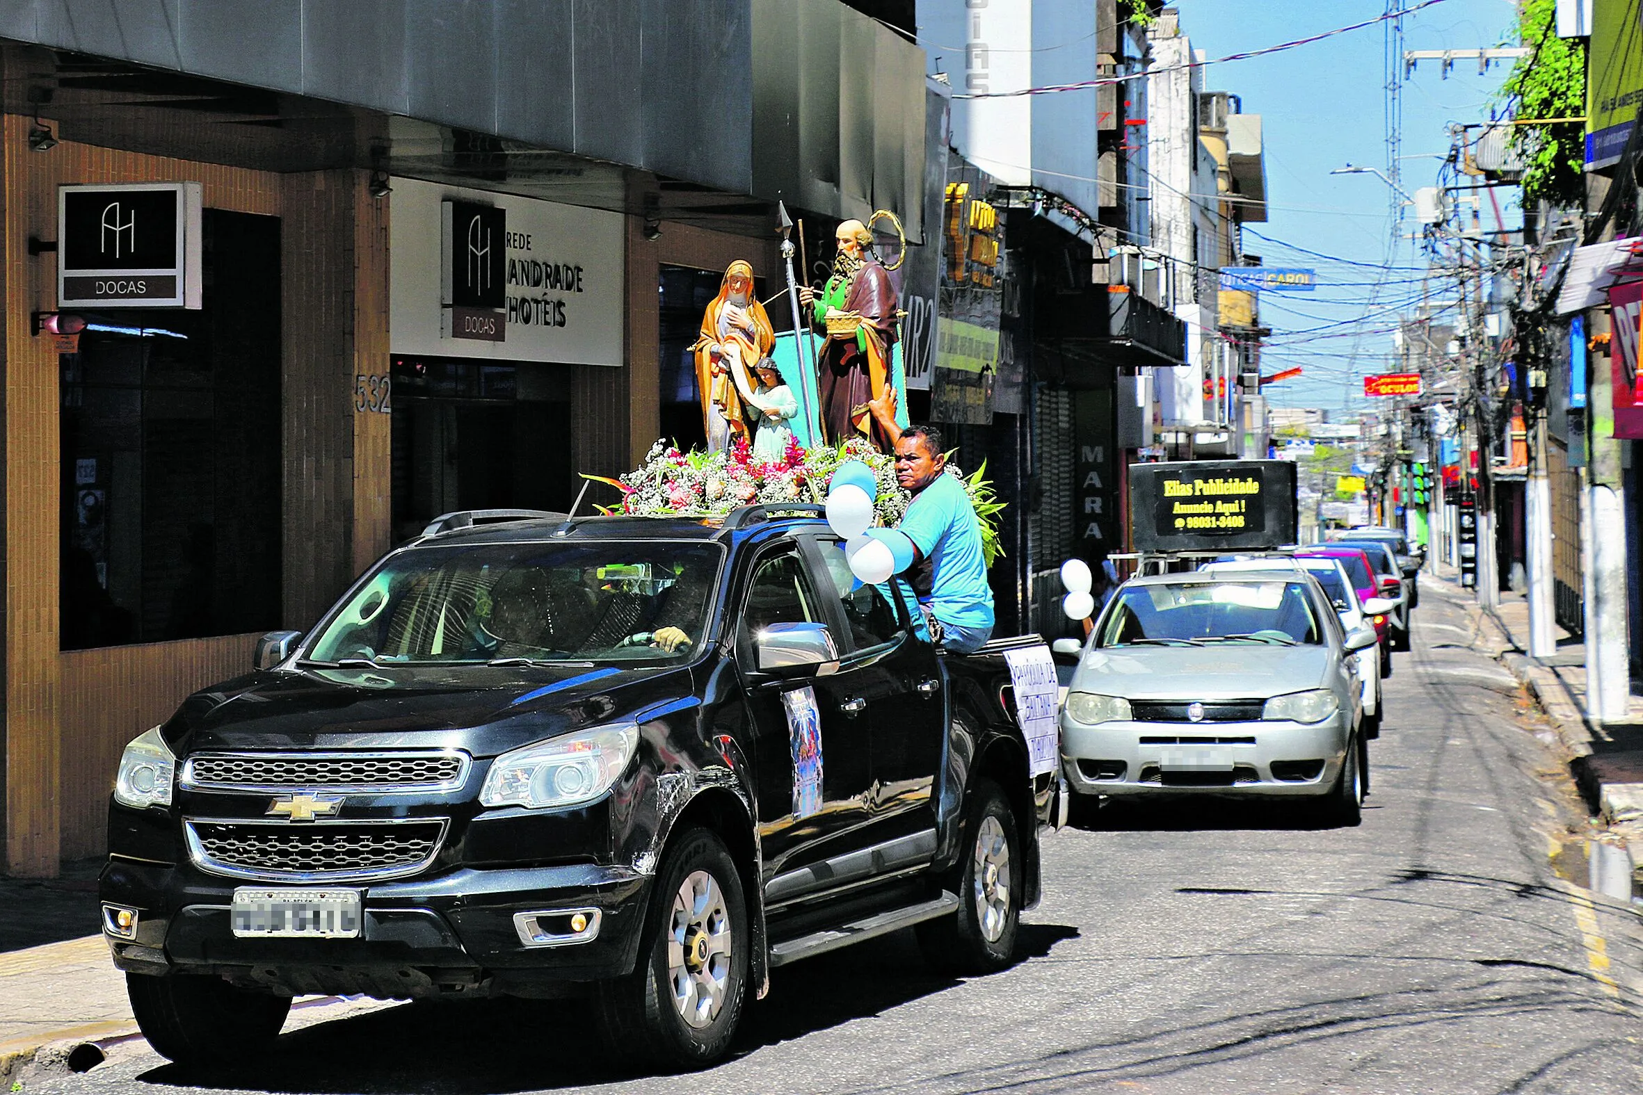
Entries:
{"label": "bearded male saint statue in brown and green robes, beside a staff", "polygon": [[872,233],[866,225],[846,220],[838,227],[836,241],[838,256],[826,287],[798,291],[800,302],[812,310],[812,322],[826,330],[817,363],[822,430],[830,443],[859,433],[889,453],[895,437],[868,404],[882,404],[892,386],[895,289],[869,251]]}

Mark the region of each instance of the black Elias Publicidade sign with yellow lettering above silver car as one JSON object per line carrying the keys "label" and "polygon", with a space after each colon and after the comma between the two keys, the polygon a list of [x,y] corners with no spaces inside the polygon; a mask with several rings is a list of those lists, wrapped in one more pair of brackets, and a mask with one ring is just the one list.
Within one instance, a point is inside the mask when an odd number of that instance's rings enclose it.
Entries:
{"label": "black Elias Publicidade sign with yellow lettering above silver car", "polygon": [[1295,543],[1298,532],[1286,460],[1130,465],[1137,552],[1273,548]]}

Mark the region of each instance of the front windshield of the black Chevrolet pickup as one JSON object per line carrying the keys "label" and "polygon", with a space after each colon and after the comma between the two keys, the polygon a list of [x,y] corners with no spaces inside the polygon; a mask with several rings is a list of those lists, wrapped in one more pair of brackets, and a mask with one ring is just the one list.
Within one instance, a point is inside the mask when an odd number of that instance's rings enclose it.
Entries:
{"label": "front windshield of the black Chevrolet pickup", "polygon": [[388,558],[304,655],[365,662],[682,662],[723,550],[608,540],[427,547]]}

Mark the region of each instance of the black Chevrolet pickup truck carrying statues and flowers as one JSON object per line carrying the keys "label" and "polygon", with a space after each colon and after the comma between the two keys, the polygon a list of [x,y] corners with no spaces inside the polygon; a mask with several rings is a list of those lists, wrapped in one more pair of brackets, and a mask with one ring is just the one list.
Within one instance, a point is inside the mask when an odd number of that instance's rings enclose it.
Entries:
{"label": "black Chevrolet pickup truck carrying statues and flowers", "polygon": [[240,1057],[307,993],[582,995],[690,1067],[775,965],[907,926],[1006,965],[1066,801],[1015,714],[1038,640],[930,645],[815,509],[447,515],[135,739],[100,895],[150,1044]]}

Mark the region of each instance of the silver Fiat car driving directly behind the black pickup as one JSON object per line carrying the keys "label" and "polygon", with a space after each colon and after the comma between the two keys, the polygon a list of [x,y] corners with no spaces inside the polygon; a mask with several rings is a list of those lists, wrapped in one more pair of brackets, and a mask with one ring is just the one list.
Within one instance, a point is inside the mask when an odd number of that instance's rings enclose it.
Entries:
{"label": "silver Fiat car driving directly behind the black pickup", "polygon": [[1127,581],[1084,644],[1061,767],[1084,795],[1273,795],[1357,824],[1369,790],[1357,650],[1301,570]]}

